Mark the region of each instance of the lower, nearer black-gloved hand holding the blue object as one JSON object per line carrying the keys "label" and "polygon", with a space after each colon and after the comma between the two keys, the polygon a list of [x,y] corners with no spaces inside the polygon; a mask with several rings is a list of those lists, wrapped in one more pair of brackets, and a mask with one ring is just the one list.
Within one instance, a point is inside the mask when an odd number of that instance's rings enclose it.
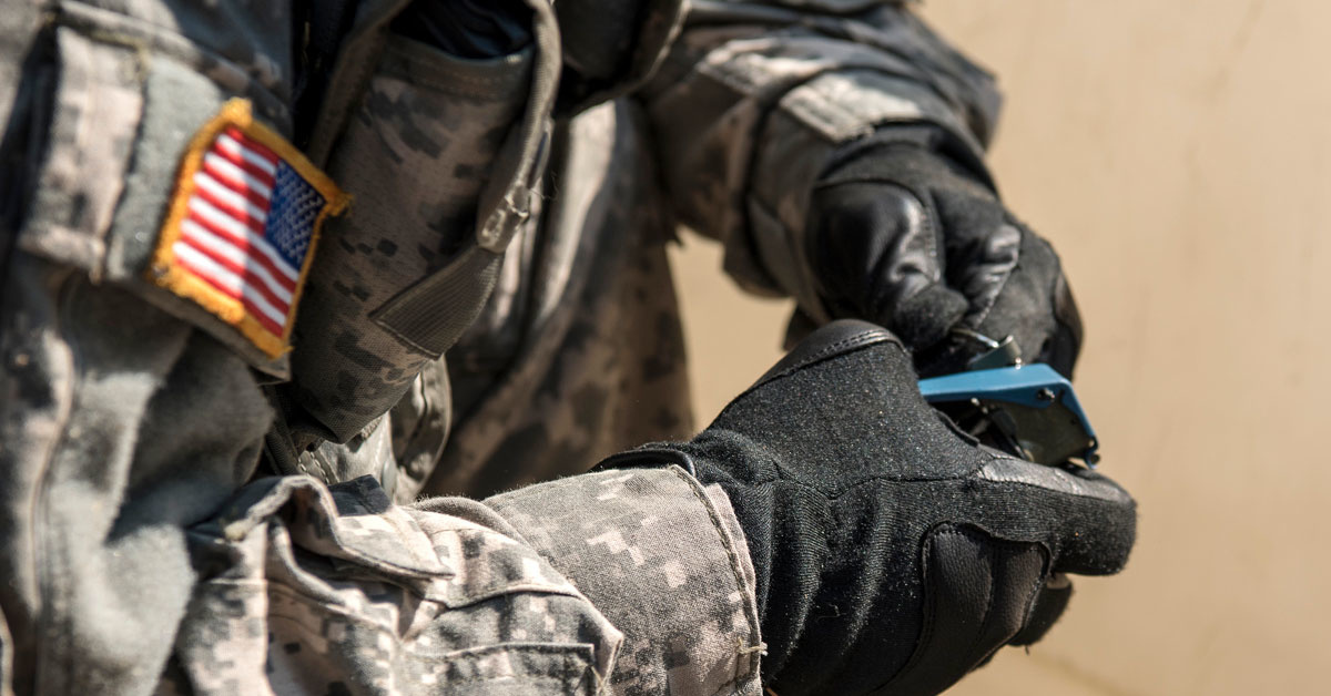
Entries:
{"label": "lower, nearer black-gloved hand holding the blue object", "polygon": [[937,693],[1040,639],[1065,572],[1127,560],[1135,503],[1111,480],[978,447],[920,397],[888,331],[833,322],[673,462],[728,494],[757,575],[764,681],[800,693]]}

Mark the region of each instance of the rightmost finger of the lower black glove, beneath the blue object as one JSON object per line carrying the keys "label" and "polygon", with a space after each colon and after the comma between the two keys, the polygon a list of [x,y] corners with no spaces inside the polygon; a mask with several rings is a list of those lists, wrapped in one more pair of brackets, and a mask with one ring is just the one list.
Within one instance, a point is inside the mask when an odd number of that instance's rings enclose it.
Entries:
{"label": "rightmost finger of the lower black glove, beneath the blue object", "polygon": [[1051,467],[1008,456],[977,475],[1000,486],[997,510],[1009,520],[1008,534],[1042,536],[1050,544],[1054,571],[1111,575],[1127,563],[1137,539],[1137,502],[1109,478],[1074,464]]}

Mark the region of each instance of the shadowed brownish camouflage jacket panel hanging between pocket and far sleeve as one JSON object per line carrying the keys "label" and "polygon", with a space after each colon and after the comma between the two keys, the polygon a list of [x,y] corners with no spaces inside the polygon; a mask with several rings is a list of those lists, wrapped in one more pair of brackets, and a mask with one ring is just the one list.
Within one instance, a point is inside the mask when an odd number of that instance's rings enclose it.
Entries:
{"label": "shadowed brownish camouflage jacket panel hanging between pocket and far sleeve", "polygon": [[620,100],[567,128],[539,256],[512,285],[500,279],[449,351],[459,418],[427,494],[487,495],[576,474],[692,430],[669,218],[642,112]]}

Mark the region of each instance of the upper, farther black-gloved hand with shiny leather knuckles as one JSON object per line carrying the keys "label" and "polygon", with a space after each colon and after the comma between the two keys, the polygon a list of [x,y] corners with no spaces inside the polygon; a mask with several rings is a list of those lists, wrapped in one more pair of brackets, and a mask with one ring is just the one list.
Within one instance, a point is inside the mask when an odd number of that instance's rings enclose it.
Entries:
{"label": "upper, farther black-gloved hand with shiny leather knuckles", "polygon": [[888,327],[925,377],[961,371],[984,350],[954,329],[1012,335],[1026,362],[1071,377],[1081,318],[1054,250],[961,148],[928,128],[893,133],[815,188],[804,253],[821,309]]}

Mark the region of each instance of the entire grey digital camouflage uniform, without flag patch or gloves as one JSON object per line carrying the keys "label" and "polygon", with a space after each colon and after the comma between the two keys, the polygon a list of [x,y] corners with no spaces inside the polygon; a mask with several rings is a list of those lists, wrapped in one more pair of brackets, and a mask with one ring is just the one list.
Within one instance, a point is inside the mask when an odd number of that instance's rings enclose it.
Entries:
{"label": "entire grey digital camouflage uniform, without flag patch or gloves", "polygon": [[[988,77],[857,0],[534,1],[490,61],[393,36],[403,0],[313,5],[0,13],[0,692],[757,693],[724,494],[548,479],[691,427],[675,221],[805,293],[829,154],[980,149]],[[234,97],[355,197],[277,357],[148,275]]]}

